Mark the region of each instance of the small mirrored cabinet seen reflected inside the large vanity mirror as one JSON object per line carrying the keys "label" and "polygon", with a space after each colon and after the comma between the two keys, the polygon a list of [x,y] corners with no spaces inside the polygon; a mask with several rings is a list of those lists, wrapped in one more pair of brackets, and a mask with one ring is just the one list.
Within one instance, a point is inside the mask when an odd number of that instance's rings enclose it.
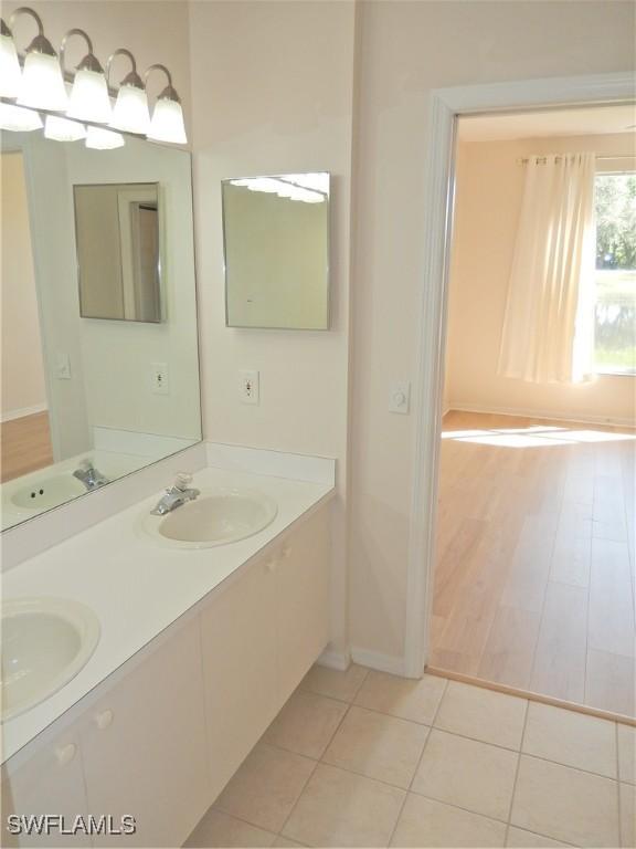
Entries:
{"label": "small mirrored cabinet seen reflected inside the large vanity mirror", "polygon": [[161,321],[156,184],[74,186],[83,318]]}

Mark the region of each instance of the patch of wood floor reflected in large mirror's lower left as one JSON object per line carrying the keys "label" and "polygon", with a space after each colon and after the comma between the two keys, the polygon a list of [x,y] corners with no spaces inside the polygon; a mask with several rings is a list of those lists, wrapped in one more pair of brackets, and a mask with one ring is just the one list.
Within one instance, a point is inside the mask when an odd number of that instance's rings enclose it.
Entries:
{"label": "patch of wood floor reflected in large mirror's lower left", "polygon": [[47,412],[2,422],[0,442],[0,481],[11,481],[53,462]]}

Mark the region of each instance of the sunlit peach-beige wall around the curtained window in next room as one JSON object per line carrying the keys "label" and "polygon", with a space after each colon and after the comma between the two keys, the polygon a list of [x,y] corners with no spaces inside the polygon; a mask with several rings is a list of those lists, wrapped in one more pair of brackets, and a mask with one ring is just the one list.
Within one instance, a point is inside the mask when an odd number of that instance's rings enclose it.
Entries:
{"label": "sunlit peach-beige wall around the curtained window in next room", "polygon": [[459,145],[449,279],[446,406],[537,416],[634,421],[636,378],[600,375],[572,386],[497,374],[499,342],[529,154],[629,154],[625,135],[466,142]]}

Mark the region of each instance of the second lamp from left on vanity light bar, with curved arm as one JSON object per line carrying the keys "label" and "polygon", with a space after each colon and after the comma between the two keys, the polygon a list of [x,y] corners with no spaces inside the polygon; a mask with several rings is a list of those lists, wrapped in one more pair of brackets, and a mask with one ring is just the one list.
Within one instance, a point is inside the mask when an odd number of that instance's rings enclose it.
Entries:
{"label": "second lamp from left on vanity light bar, with curved arm", "polygon": [[29,106],[32,109],[47,109],[49,112],[64,112],[68,105],[68,95],[62,76],[62,69],[57,61],[57,53],[44,35],[44,28],[40,15],[32,9],[20,7],[10,18],[11,29],[14,20],[28,14],[38,24],[38,35],[26,48],[24,67],[18,87],[18,104]]}

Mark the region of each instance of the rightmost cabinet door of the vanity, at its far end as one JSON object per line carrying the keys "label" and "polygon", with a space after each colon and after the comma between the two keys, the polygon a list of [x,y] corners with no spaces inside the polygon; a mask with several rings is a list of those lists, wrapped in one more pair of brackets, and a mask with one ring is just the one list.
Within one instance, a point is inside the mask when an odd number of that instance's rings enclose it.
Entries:
{"label": "rightmost cabinet door of the vanity, at its far end", "polygon": [[329,640],[329,507],[295,531],[276,566],[278,696],[283,704]]}

